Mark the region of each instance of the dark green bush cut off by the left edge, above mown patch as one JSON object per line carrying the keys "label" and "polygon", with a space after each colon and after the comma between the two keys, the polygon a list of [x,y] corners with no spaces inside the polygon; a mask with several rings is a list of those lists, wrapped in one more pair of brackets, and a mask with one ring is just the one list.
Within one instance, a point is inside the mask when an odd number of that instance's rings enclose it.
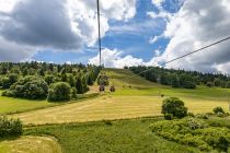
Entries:
{"label": "dark green bush cut off by the left edge, above mown patch", "polygon": [[8,119],[0,116],[0,138],[18,137],[22,134],[22,122],[20,119]]}

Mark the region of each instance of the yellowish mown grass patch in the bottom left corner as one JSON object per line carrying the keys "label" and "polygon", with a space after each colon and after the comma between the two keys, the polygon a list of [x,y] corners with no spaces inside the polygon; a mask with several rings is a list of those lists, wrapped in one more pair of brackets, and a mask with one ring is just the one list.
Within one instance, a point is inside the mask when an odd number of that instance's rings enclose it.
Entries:
{"label": "yellowish mown grass patch in the bottom left corner", "polygon": [[0,141],[0,153],[61,153],[57,140],[51,137],[21,137]]}

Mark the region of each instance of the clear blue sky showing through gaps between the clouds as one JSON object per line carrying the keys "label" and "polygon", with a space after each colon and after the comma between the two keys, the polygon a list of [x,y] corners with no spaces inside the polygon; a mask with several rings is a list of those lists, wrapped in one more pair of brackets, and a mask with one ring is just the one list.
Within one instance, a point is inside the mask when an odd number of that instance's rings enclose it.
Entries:
{"label": "clear blue sky showing through gaps between the clouds", "polygon": [[[170,2],[164,2],[164,9],[170,12],[176,12],[169,8]],[[154,44],[150,44],[151,37],[161,35],[164,32],[165,19],[151,19],[147,15],[148,11],[158,12],[151,0],[139,0],[136,3],[137,13],[128,21],[111,20],[108,22],[111,30],[102,38],[103,48],[122,50],[122,57],[131,55],[135,58],[141,58],[143,61],[149,61],[154,57],[154,50],[164,51],[169,39],[161,38]],[[96,24],[96,23],[95,23]],[[124,27],[134,28],[134,31],[124,30]],[[97,55],[97,45],[94,47],[84,46],[80,52],[71,51],[39,51],[33,56],[34,60],[47,62],[82,62],[88,63],[88,60]]]}

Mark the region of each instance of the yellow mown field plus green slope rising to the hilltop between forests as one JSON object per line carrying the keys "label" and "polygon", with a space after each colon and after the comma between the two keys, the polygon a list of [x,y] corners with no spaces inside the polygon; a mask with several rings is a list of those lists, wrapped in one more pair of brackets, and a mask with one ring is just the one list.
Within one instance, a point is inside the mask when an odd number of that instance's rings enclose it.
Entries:
{"label": "yellow mown field plus green slope rising to the hilltop between forests", "polygon": [[111,78],[111,83],[116,86],[116,93],[107,93],[82,103],[22,113],[13,117],[21,118],[24,123],[43,125],[156,116],[161,114],[163,98],[160,94],[182,98],[193,113],[209,113],[216,106],[228,108],[228,90],[202,86],[197,90],[172,89],[146,81],[128,70],[105,71]]}

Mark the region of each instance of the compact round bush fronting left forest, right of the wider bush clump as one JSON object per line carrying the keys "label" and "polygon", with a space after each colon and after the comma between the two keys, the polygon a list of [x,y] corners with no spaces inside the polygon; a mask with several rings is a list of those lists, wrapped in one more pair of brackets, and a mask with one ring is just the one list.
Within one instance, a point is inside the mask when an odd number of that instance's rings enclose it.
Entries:
{"label": "compact round bush fronting left forest, right of the wider bush clump", "polygon": [[66,82],[58,82],[50,85],[48,91],[49,102],[61,102],[70,101],[71,98],[71,86]]}

